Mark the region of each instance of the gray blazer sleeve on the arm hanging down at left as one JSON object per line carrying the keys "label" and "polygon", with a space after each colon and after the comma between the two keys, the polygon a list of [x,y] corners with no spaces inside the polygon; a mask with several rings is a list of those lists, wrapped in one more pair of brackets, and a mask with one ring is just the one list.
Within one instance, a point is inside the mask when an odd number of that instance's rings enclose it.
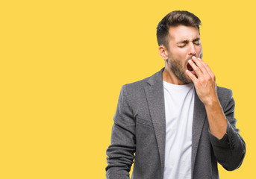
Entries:
{"label": "gray blazer sleeve on the arm hanging down at left", "polygon": [[107,179],[128,179],[136,147],[135,121],[124,85],[113,117],[110,146],[107,148]]}

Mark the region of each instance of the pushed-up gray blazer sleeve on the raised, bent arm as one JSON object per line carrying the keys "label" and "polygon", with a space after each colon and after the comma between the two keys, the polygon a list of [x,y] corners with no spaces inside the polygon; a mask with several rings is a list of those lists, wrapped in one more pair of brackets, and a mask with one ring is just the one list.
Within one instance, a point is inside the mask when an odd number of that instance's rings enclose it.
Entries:
{"label": "pushed-up gray blazer sleeve on the raised, bent arm", "polygon": [[210,142],[213,146],[213,152],[217,161],[228,171],[238,169],[243,162],[246,154],[246,143],[236,128],[237,119],[234,118],[234,98],[232,91],[228,90],[227,103],[223,107],[223,112],[227,119],[228,125],[226,134],[222,139],[216,138],[210,133]]}

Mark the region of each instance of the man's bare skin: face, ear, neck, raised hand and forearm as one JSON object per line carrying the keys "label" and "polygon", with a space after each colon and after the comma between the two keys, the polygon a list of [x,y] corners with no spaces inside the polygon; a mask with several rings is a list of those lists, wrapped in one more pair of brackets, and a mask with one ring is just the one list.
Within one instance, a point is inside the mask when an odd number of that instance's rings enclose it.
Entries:
{"label": "man's bare skin: face, ear, neck, raised hand and forearm", "polygon": [[[227,119],[219,104],[215,75],[202,60],[202,44],[199,30],[178,25],[169,28],[169,47],[159,46],[160,57],[165,60],[163,81],[170,84],[193,83],[196,93],[207,112],[210,133],[221,139],[226,133]],[[187,69],[187,64],[193,71]]]}

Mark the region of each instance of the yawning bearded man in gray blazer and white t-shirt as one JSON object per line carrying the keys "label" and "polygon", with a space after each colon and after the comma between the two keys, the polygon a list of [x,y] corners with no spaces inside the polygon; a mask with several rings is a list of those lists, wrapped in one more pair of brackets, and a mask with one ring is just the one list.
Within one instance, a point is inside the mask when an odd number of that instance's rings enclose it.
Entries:
{"label": "yawning bearded man in gray blazer and white t-shirt", "polygon": [[243,162],[231,90],[216,87],[202,60],[200,19],[172,11],[157,26],[165,67],[122,87],[107,148],[108,179],[219,178]]}

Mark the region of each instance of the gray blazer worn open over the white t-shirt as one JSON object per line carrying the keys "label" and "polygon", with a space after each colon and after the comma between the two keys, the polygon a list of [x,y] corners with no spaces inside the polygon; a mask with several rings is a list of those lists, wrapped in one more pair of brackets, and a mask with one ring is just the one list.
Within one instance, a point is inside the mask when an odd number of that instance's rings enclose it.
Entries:
{"label": "gray blazer worn open over the white t-shirt", "polygon": [[[111,144],[107,148],[107,179],[128,179],[133,161],[131,178],[163,179],[166,121],[162,72],[163,69],[152,77],[122,87],[113,117]],[[210,134],[205,105],[195,95],[193,179],[219,178],[217,162],[231,171],[241,165],[246,154],[246,144],[236,128],[232,92],[217,87],[217,93],[228,119],[222,139]]]}

